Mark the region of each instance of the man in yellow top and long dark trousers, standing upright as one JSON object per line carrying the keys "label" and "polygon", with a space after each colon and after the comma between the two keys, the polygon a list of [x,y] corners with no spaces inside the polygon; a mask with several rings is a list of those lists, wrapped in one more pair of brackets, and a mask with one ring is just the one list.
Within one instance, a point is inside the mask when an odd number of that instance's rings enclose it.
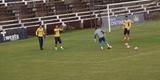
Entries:
{"label": "man in yellow top and long dark trousers, standing upright", "polygon": [[42,25],[36,30],[36,36],[38,37],[40,50],[43,50],[43,38],[45,36],[45,30]]}

